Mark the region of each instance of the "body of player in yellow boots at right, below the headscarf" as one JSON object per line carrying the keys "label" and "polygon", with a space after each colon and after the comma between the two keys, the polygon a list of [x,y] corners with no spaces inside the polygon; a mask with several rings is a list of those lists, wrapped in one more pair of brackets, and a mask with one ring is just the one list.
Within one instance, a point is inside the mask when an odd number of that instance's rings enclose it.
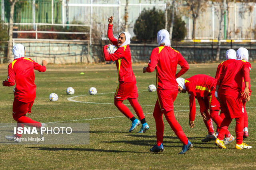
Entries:
{"label": "body of player in yellow boots at right, below the headscarf", "polygon": [[[241,99],[242,96],[247,99],[249,94],[249,74],[246,73],[244,63],[241,60],[232,60],[230,64],[223,65],[217,81],[215,96],[223,104],[221,109],[225,118],[220,125],[220,132],[215,144],[222,149],[226,149],[222,140],[232,119],[236,119],[236,149],[252,148],[243,143],[244,107]],[[241,94],[243,76],[245,89]]]}

